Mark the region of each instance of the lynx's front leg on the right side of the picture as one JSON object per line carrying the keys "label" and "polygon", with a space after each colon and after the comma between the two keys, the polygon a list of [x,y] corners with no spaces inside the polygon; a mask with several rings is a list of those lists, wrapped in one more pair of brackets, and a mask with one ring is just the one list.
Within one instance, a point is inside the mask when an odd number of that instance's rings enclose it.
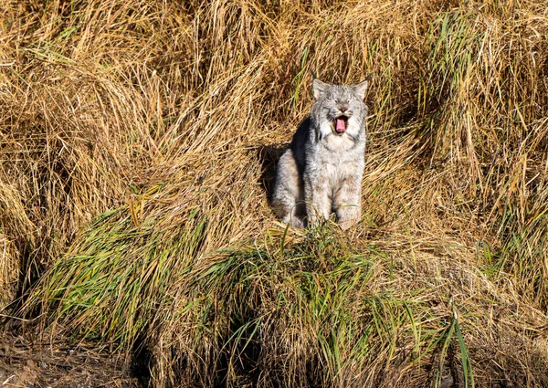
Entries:
{"label": "lynx's front leg on the right side of the picture", "polygon": [[347,177],[335,192],[333,208],[342,229],[348,229],[362,217],[362,177]]}

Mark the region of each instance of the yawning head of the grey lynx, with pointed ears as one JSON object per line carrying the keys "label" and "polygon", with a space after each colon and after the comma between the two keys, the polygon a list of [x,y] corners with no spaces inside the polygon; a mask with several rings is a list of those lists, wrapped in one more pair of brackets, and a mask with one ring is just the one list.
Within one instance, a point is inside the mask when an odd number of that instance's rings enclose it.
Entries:
{"label": "yawning head of the grey lynx, with pointed ears", "polygon": [[331,134],[357,140],[364,131],[368,79],[356,85],[330,85],[314,79],[314,104],[311,118],[319,129],[320,139]]}

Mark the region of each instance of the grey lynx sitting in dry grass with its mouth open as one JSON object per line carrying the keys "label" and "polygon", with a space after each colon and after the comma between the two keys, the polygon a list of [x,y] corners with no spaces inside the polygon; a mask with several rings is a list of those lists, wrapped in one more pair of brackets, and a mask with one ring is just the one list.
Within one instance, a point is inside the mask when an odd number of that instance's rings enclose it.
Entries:
{"label": "grey lynx sitting in dry grass with its mouth open", "polygon": [[360,220],[368,79],[342,86],[314,77],[311,115],[276,173],[272,208],[285,224],[309,227],[332,213],[342,229]]}

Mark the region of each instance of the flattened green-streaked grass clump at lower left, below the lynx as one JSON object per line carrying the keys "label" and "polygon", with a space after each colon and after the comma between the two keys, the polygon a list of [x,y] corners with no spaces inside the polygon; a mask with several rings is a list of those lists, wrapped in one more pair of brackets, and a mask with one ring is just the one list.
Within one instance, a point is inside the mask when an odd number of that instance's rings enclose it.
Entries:
{"label": "flattened green-streaked grass clump at lower left, below the lynx", "polygon": [[205,219],[194,212],[187,221],[166,234],[153,219],[133,225],[127,207],[101,215],[27,305],[55,311],[51,318],[69,322],[75,339],[130,349],[168,298],[172,277],[188,272],[203,244]]}

